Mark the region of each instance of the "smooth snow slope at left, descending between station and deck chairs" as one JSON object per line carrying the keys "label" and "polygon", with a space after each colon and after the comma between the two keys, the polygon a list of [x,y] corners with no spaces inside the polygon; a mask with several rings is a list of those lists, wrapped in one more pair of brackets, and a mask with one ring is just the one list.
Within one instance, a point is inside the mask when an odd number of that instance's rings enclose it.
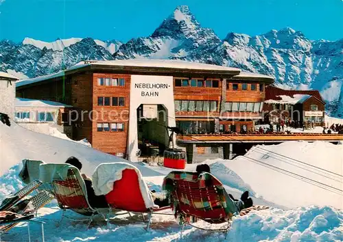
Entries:
{"label": "smooth snow slope at left, descending between station and deck chairs", "polygon": [[7,172],[13,165],[20,163],[23,159],[43,160],[47,163],[64,163],[71,156],[80,159],[83,164],[82,172],[87,176],[91,176],[95,167],[100,163],[116,161],[136,165],[141,170],[143,176],[161,175],[136,163],[100,152],[83,144],[35,133],[23,129],[14,122],[11,124],[9,127],[0,122],[0,175]]}

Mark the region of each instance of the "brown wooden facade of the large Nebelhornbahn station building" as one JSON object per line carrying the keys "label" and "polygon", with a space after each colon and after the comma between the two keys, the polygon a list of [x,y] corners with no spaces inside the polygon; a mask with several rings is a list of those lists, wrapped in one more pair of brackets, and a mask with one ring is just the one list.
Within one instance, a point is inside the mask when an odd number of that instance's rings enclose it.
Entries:
{"label": "brown wooden facade of the large Nebelhornbahn station building", "polygon": [[[99,67],[100,68],[100,67]],[[80,68],[80,70],[72,70],[65,77],[57,77],[47,79],[36,84],[23,85],[17,88],[16,95],[23,98],[54,100],[68,105],[72,105],[74,110],[71,119],[75,120],[75,115],[78,116],[73,125],[73,139],[88,139],[93,148],[107,152],[110,154],[125,156],[128,150],[128,128],[130,118],[130,85],[131,75],[144,74],[143,69],[126,70],[126,68],[108,68],[101,69]],[[148,71],[148,70],[147,70]],[[219,72],[215,74],[206,70],[182,70],[187,72],[183,75],[180,70],[162,70],[161,75],[174,76],[174,100],[191,100],[191,101],[208,101],[211,103],[211,111],[182,111],[176,109],[175,118],[178,122],[199,121],[211,122],[211,127],[215,127],[215,133],[230,130],[230,125],[236,125],[236,132],[241,132],[241,127],[246,126],[247,131],[250,131],[254,125],[254,120],[261,118],[260,111],[227,111],[225,110],[227,102],[245,102],[245,103],[261,103],[264,100],[264,86],[272,83],[272,79],[231,79],[232,74]],[[192,75],[192,72],[194,75]],[[158,72],[149,70],[147,74],[158,75]],[[188,78],[186,78],[186,77]],[[193,76],[193,77],[192,77]],[[189,78],[192,77],[192,78]],[[99,85],[99,79],[124,79],[124,85]],[[187,79],[189,85],[178,86],[176,80]],[[193,86],[191,80],[198,81],[214,81],[215,84],[211,87]],[[63,84],[64,82],[64,84]],[[238,84],[237,90],[233,90],[233,85]],[[260,90],[259,85],[263,85],[263,90]],[[247,90],[243,90],[242,85],[247,85]],[[256,85],[252,90],[252,85]],[[63,90],[64,87],[64,90]],[[99,99],[100,98],[100,99]],[[101,99],[103,98],[103,99]],[[109,99],[109,103],[108,102]],[[123,105],[114,105],[113,98],[124,98]],[[64,99],[64,100],[62,100]],[[99,105],[100,100],[103,100],[103,105]],[[105,101],[106,100],[106,101]],[[168,110],[170,111],[170,110]],[[107,124],[109,124],[107,128]],[[123,124],[123,129],[112,129],[111,125]],[[101,130],[101,131],[99,131]],[[209,132],[209,133],[212,133]]]}

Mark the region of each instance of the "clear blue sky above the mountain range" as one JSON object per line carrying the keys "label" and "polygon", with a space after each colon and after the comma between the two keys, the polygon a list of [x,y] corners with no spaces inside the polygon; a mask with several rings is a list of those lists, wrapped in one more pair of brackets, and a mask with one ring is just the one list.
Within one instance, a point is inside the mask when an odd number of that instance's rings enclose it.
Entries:
{"label": "clear blue sky above the mountain range", "polygon": [[292,27],[311,40],[343,38],[342,0],[0,0],[0,39],[149,36],[177,5],[189,5],[220,38]]}

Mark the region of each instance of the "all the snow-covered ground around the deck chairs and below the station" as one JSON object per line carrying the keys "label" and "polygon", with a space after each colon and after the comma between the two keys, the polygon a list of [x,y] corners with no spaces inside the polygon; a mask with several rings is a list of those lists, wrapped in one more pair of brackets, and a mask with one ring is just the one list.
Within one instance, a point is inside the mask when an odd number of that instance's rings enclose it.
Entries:
{"label": "all the snow-covered ground around the deck chairs and below the station", "polygon": [[[249,190],[255,204],[267,204],[271,208],[235,218],[226,240],[221,232],[186,228],[183,232],[183,241],[342,241],[343,194],[337,194],[343,189],[342,148],[342,144],[333,145],[326,142],[286,142],[276,146],[255,146],[245,156],[232,161],[206,161],[211,167],[211,172],[222,181],[233,196],[238,197],[242,191]],[[122,161],[75,142],[27,131],[16,124],[8,127],[0,123],[0,202],[6,194],[23,186],[18,178],[21,159],[64,162],[70,155],[81,159],[84,163],[84,172],[88,176],[91,176],[94,167],[99,163]],[[299,179],[272,170],[270,166],[262,165],[261,162],[316,180],[324,184],[322,187],[325,189],[306,183],[305,178]],[[163,176],[171,170],[141,163],[135,165],[139,167],[151,189],[161,191]],[[186,167],[186,170],[195,169],[195,164]],[[324,172],[322,169],[327,171]],[[152,228],[148,232],[145,231],[142,222],[127,223],[125,219],[113,221],[108,228],[101,217],[97,217],[88,230],[86,221],[64,219],[58,226],[60,216],[61,211],[56,202],[40,209],[38,217],[47,222],[46,241],[180,239],[181,228],[173,216],[154,215]],[[73,219],[81,218],[71,211],[67,216]],[[212,229],[225,226],[210,225],[204,221],[198,221],[197,225]],[[32,240],[41,241],[38,225],[32,224],[30,228]],[[27,225],[16,226],[8,234],[1,235],[0,240],[27,241]]]}

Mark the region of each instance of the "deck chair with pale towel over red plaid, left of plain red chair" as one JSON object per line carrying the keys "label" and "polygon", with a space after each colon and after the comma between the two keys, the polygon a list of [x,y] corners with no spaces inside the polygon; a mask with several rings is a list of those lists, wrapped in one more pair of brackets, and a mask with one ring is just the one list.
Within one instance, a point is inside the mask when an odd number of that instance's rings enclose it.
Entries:
{"label": "deck chair with pale towel over red plaid, left of plain red chair", "polygon": [[102,209],[95,209],[89,204],[86,185],[78,168],[65,163],[43,163],[39,169],[40,179],[43,183],[51,183],[51,192],[62,209],[60,223],[66,217],[67,209],[88,216],[88,219],[78,219],[78,221],[87,220],[88,226],[95,215],[103,214]]}

